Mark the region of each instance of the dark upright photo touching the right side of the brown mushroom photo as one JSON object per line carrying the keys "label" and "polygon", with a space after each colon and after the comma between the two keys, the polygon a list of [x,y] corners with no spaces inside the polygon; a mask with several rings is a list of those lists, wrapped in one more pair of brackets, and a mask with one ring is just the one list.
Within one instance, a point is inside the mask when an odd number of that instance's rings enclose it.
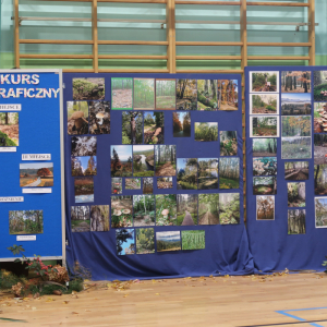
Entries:
{"label": "dark upright photo touching the right side of the brown mushroom photo", "polygon": [[89,134],[110,134],[110,102],[89,101]]}

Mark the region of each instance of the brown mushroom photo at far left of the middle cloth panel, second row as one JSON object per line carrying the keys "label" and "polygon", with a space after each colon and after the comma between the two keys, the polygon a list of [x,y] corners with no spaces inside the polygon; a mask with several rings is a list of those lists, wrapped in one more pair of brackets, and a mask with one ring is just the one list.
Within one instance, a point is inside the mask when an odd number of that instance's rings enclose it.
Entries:
{"label": "brown mushroom photo at far left of the middle cloth panel, second row", "polygon": [[66,116],[69,135],[88,134],[87,101],[66,101]]}

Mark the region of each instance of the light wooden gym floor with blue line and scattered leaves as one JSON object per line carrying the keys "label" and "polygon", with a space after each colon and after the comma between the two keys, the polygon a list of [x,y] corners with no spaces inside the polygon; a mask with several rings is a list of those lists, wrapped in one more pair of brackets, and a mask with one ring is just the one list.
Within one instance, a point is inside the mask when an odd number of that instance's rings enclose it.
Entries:
{"label": "light wooden gym floor with blue line and scattered leaves", "polygon": [[[27,323],[0,320],[0,326],[327,326],[325,274],[201,277],[88,286],[89,289],[77,295],[51,295],[22,302],[2,294],[0,318]],[[315,307],[322,308],[313,310]],[[299,308],[311,310],[291,311]],[[300,320],[277,311],[286,311]]]}

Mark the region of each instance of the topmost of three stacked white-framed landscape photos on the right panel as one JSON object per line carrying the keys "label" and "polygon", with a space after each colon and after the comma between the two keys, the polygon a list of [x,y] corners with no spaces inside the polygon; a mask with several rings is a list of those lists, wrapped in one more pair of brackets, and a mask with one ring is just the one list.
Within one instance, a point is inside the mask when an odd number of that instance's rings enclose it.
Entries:
{"label": "topmost of three stacked white-framed landscape photos on the right panel", "polygon": [[250,93],[279,93],[279,72],[250,72]]}

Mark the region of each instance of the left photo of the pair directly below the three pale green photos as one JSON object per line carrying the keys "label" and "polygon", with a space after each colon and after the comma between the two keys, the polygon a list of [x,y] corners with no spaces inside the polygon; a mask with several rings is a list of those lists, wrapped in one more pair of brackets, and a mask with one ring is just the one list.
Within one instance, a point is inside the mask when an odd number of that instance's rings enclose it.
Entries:
{"label": "left photo of the pair directly below the three pale green photos", "polygon": [[143,113],[140,111],[122,112],[122,144],[143,143]]}

